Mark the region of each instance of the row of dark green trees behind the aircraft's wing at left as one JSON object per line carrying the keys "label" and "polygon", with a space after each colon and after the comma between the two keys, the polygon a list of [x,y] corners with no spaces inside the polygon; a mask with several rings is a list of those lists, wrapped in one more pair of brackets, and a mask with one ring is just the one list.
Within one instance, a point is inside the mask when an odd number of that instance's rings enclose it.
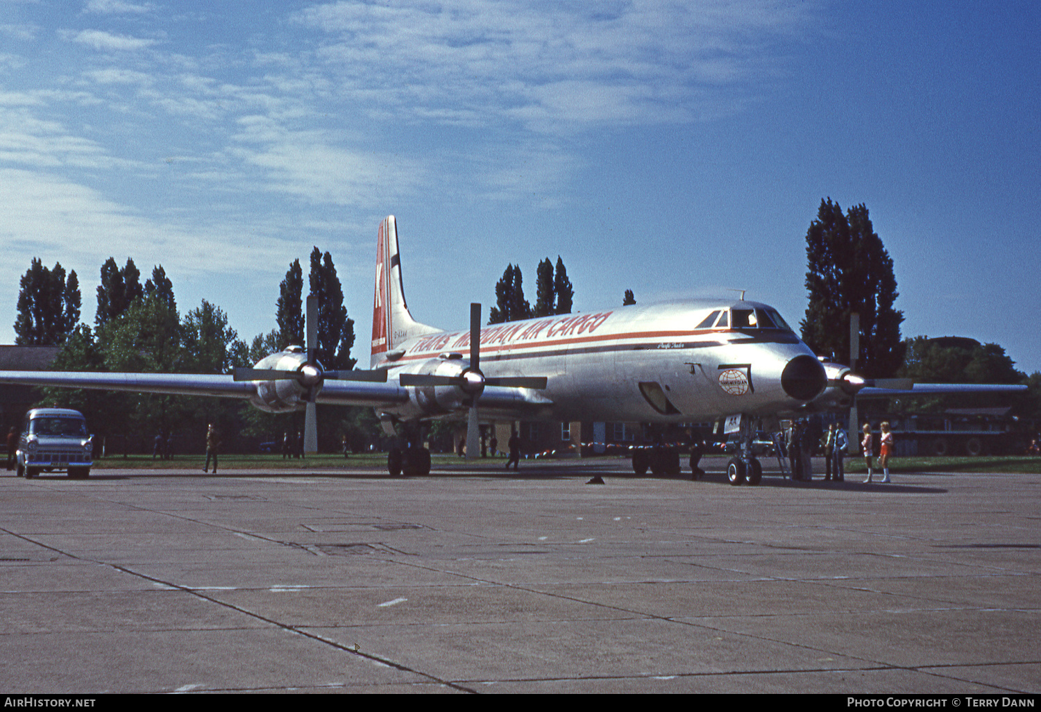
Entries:
{"label": "row of dark green trees behind the aircraft's wing at left", "polygon": [[[34,259],[21,283],[17,344],[60,346],[53,363],[60,371],[227,374],[305,340],[300,260],[290,263],[281,284],[276,304],[278,327],[256,336],[251,346],[228,326],[224,311],[205,300],[182,316],[173,283],[161,265],[155,266],[152,278],[143,285],[132,259],[120,268],[109,258],[101,268],[100,282],[95,326],[91,328],[79,323],[81,297],[75,273],[66,278],[60,264],[47,270]],[[309,286],[320,301],[319,360],[328,367],[352,367],[354,321],[347,315],[332,255],[318,248],[310,255]],[[129,435],[145,442],[151,442],[159,432],[201,442],[209,423],[226,433],[279,440],[283,433],[303,428],[302,415],[271,415],[239,401],[222,399],[45,389],[44,400],[84,411],[101,437]],[[320,435],[328,443],[338,443],[340,435],[348,433],[357,444],[357,431],[366,427],[357,422],[366,416],[337,410],[338,417],[323,413],[320,423],[325,432]],[[375,416],[367,419],[375,422]]]}

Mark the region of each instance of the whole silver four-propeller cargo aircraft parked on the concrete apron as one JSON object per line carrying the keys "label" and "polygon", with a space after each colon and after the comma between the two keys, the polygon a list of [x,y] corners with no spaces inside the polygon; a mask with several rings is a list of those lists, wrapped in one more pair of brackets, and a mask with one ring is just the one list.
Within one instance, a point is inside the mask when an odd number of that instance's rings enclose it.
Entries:
{"label": "whole silver four-propeller cargo aircraft parked on the concrete apron", "polygon": [[[743,297],[743,296],[742,296]],[[315,360],[316,306],[307,301],[307,348],[289,347],[234,375],[0,372],[0,382],[249,400],[268,412],[305,409],[305,449],[316,450],[315,404],[371,406],[402,447],[398,475],[427,474],[425,424],[467,419],[469,457],[481,421],[637,422],[658,432],[726,421],[739,433],[728,463],[733,484],[760,481],[752,455],[758,422],[832,406],[853,396],[906,393],[909,383],[872,383],[822,364],[772,307],[743,299],[632,305],[443,331],[416,322],[405,302],[392,215],[376,248],[369,370],[325,371]],[[914,386],[917,389],[917,386]],[[636,472],[678,469],[664,448],[637,451]]]}

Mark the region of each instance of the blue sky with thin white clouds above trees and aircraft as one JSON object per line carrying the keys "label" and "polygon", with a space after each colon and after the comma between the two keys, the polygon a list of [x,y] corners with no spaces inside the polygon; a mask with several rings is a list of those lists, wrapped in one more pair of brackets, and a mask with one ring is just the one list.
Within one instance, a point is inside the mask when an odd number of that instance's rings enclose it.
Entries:
{"label": "blue sky with thin white clouds above trees and aircraft", "polygon": [[870,210],[905,336],[1039,371],[1038,36],[1015,1],[0,0],[0,342],[32,257],[88,324],[132,257],[249,340],[318,246],[365,363],[391,213],[429,324],[558,255],[576,310],[745,289],[795,324],[830,197]]}

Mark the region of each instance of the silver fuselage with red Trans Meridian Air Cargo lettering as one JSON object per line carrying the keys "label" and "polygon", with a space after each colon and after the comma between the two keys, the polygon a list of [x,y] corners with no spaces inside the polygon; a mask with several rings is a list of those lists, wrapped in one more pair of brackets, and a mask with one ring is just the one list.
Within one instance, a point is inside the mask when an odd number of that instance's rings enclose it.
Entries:
{"label": "silver fuselage with red Trans Meridian Air Cargo lettering", "polygon": [[[790,329],[697,328],[714,311],[736,309],[769,307],[705,300],[484,327],[486,376],[545,376],[548,384],[537,391],[486,386],[477,405],[486,417],[682,423],[770,415],[812,400],[823,388],[823,370]],[[401,344],[400,356],[372,365],[387,368],[388,382],[402,373],[449,376],[466,367],[468,350],[468,331],[440,332]],[[819,387],[796,393],[805,398],[793,397],[782,379],[799,357],[808,377],[819,380]],[[412,419],[461,413],[466,404],[457,387],[426,386],[379,410]]]}

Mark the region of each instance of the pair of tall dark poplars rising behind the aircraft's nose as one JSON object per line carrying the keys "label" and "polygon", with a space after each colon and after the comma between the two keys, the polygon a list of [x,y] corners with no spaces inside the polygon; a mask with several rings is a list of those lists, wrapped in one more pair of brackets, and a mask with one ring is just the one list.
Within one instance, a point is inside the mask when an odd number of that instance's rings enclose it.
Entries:
{"label": "pair of tall dark poplars rising behind the aircraft's nose", "polygon": [[806,233],[809,304],[803,340],[817,354],[849,359],[849,315],[860,314],[858,373],[886,378],[904,360],[904,314],[893,309],[898,293],[893,260],[874,232],[863,204],[843,214],[831,198],[820,201]]}

